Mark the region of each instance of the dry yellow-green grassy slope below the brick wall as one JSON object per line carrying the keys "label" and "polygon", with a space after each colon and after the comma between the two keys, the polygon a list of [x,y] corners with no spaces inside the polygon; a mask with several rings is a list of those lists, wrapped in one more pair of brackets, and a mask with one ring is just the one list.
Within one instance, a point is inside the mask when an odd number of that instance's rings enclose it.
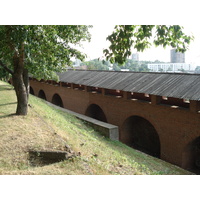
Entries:
{"label": "dry yellow-green grassy slope below the brick wall", "polygon": [[[0,81],[0,174],[190,174],[181,168],[104,138],[75,117],[30,95],[28,116],[12,115],[14,90]],[[55,134],[56,132],[56,134]],[[80,156],[33,167],[28,150],[65,150]]]}

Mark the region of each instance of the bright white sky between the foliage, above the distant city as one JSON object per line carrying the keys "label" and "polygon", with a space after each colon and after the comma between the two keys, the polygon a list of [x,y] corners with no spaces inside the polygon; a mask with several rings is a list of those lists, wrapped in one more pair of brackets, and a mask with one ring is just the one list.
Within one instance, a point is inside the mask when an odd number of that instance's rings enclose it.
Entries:
{"label": "bright white sky between the foliage, above the distant city", "polygon": [[[184,32],[194,35],[194,41],[191,42],[189,50],[185,53],[186,63],[192,65],[200,65],[200,27],[194,25],[183,24]],[[93,25],[90,30],[92,39],[90,43],[84,43],[84,52],[88,55],[87,60],[95,59],[103,56],[103,49],[108,47],[109,42],[106,37],[112,33],[114,25]],[[152,45],[150,49],[144,52],[139,52],[140,60],[160,60],[170,62],[170,49],[171,47],[155,47]],[[133,53],[136,52],[133,50]]]}

